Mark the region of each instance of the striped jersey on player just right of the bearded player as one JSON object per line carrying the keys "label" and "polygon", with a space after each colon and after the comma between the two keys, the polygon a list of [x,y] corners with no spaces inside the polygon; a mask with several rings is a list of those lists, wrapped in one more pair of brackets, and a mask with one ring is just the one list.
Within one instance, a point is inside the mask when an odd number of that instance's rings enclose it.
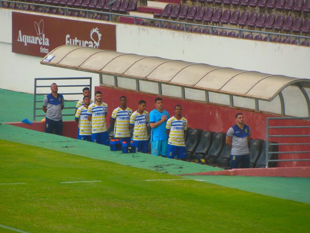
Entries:
{"label": "striped jersey on player just right of the bearded player", "polygon": [[115,108],[112,112],[112,118],[115,119],[114,124],[114,138],[130,137],[129,133],[129,120],[132,110],[127,107],[126,110],[122,108]]}

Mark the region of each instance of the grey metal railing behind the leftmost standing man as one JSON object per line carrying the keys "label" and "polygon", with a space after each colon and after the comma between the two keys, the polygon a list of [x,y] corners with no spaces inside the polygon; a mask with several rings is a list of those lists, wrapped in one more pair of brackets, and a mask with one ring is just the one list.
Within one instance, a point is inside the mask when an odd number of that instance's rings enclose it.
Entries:
{"label": "grey metal railing behind the leftmost standing man", "polygon": [[[50,85],[37,85],[37,81],[38,80],[89,80],[88,84],[85,85],[57,85],[58,87],[89,87],[89,89],[91,90],[91,77],[74,77],[74,78],[35,78],[34,79],[34,95],[33,95],[33,121],[36,120],[36,117],[45,117],[44,115],[36,115],[36,110],[42,110],[42,107],[36,107],[36,103],[43,103],[43,100],[37,100],[37,96],[38,95],[48,95],[50,93],[42,93],[39,94],[37,93],[37,88],[50,88]],[[78,93],[73,93],[73,92],[69,92],[69,93],[61,93],[62,95],[82,95],[82,92],[78,92]],[[77,100],[64,100],[65,102],[77,102],[79,101],[79,99]],[[75,109],[75,107],[64,107],[64,109]],[[74,116],[75,114],[62,114],[63,116]]]}

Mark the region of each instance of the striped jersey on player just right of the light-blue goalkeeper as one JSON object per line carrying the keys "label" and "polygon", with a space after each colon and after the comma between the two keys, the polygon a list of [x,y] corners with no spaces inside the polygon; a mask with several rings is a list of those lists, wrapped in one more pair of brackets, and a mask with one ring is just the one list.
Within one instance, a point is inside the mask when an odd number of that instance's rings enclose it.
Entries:
{"label": "striped jersey on player just right of the light-blue goalkeeper", "polygon": [[177,120],[174,116],[169,118],[166,129],[170,130],[168,143],[175,146],[185,146],[184,130],[187,130],[187,120],[182,117]]}

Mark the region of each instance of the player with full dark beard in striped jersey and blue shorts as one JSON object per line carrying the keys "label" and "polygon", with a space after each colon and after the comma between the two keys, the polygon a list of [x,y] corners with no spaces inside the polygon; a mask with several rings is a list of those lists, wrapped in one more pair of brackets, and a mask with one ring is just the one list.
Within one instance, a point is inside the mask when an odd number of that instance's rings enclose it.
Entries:
{"label": "player with full dark beard in striped jersey and blue shorts", "polygon": [[91,121],[91,141],[109,145],[109,135],[105,117],[108,113],[108,105],[102,102],[101,91],[95,93],[95,103],[88,106],[87,119]]}

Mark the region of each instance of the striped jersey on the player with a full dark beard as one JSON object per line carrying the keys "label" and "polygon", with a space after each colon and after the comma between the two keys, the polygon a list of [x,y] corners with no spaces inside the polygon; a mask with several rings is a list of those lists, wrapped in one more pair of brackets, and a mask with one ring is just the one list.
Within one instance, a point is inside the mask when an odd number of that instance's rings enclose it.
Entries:
{"label": "striped jersey on the player with a full dark beard", "polygon": [[108,105],[106,103],[98,106],[93,103],[88,106],[87,115],[91,115],[91,133],[102,133],[107,131],[107,123],[105,122],[105,114],[108,113]]}

